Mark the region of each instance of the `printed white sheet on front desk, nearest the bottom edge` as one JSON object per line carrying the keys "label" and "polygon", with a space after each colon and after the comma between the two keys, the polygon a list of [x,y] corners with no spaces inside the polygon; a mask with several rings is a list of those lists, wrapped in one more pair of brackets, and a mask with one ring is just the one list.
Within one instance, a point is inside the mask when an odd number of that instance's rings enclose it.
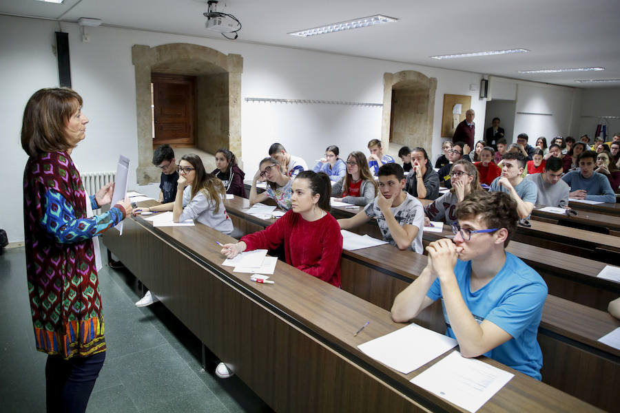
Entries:
{"label": "printed white sheet on front desk, nearest the bottom edge", "polygon": [[466,359],[454,351],[411,379],[411,383],[473,413],[513,377],[515,374],[484,361]]}

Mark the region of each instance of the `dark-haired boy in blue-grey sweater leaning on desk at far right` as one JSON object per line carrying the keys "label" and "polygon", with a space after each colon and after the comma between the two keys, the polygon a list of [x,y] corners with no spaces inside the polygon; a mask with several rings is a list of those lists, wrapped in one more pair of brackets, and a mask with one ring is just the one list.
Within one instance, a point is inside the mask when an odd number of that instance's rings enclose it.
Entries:
{"label": "dark-haired boy in blue-grey sweater leaning on desk at far right", "polygon": [[594,172],[595,151],[585,151],[579,155],[579,171],[570,171],[562,177],[570,187],[570,198],[616,203],[616,195],[609,180],[602,173]]}

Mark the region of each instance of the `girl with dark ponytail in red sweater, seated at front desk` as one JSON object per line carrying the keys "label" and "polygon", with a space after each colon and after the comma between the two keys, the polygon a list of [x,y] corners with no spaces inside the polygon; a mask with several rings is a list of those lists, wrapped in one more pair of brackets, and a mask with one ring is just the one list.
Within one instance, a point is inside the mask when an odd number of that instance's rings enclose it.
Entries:
{"label": "girl with dark ponytail in red sweater, seated at front desk", "polygon": [[284,244],[287,264],[340,287],[342,235],[329,213],[330,195],[329,176],[301,171],[293,180],[292,209],[263,231],[225,244],[222,253],[232,258],[243,251]]}

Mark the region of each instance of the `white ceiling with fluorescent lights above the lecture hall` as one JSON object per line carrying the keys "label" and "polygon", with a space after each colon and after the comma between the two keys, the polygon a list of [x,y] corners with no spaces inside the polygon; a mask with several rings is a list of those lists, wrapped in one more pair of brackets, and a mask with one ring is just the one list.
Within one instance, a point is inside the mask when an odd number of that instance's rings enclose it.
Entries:
{"label": "white ceiling with fluorescent lights above the lecture hall", "polygon": [[[226,7],[222,7],[226,3]],[[620,0],[220,0],[243,27],[236,41],[320,50],[573,87],[620,79]],[[200,0],[0,0],[0,14],[216,37]],[[384,14],[397,23],[302,38],[287,32]],[[429,56],[522,47],[529,53],[437,61]],[[604,67],[602,72],[519,74],[518,70]]]}

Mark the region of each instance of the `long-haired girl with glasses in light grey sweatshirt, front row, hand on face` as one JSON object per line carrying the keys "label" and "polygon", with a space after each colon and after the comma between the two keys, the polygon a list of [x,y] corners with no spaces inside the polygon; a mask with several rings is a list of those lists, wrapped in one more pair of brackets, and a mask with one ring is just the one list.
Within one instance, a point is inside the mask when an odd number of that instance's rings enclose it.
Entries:
{"label": "long-haired girl with glasses in light grey sweatshirt, front row, hand on face", "polygon": [[230,234],[233,224],[222,200],[226,194],[222,181],[213,173],[205,171],[203,161],[195,153],[184,155],[178,162],[178,170],[180,177],[174,202],[155,207],[138,207],[134,209],[134,215],[139,211],[172,211],[174,222],[196,220],[221,233]]}

